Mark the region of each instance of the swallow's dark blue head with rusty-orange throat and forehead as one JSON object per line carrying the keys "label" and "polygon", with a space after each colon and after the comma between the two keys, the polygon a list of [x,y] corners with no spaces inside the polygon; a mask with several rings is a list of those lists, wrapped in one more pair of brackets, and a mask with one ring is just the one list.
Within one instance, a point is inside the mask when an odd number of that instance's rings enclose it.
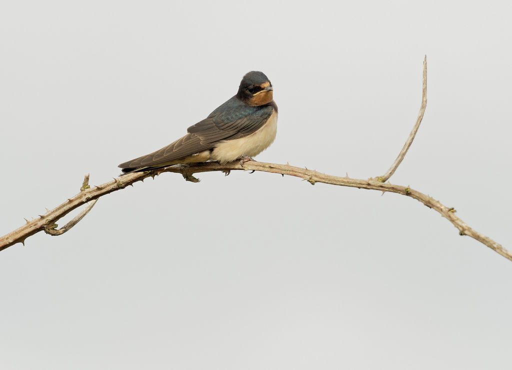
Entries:
{"label": "swallow's dark blue head with rusty-orange throat and forehead", "polygon": [[242,78],[237,97],[247,105],[268,104],[273,99],[272,84],[263,72],[251,71]]}

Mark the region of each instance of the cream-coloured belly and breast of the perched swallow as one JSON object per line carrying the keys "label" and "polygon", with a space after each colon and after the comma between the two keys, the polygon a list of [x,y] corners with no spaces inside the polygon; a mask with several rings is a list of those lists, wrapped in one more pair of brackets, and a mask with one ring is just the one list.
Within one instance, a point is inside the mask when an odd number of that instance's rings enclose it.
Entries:
{"label": "cream-coloured belly and breast of the perched swallow", "polygon": [[225,164],[242,156],[257,156],[272,144],[277,131],[278,114],[274,112],[257,132],[244,138],[224,140],[218,143],[211,153],[210,160]]}

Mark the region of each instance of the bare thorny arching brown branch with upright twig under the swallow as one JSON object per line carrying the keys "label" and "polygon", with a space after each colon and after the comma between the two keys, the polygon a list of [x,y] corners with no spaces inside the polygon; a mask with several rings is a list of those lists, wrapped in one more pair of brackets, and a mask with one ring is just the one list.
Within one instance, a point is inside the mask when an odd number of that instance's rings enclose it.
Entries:
{"label": "bare thorny arching brown branch with upright twig under the swallow", "polygon": [[[455,210],[453,208],[446,207],[442,205],[439,201],[434,200],[433,198],[425,195],[417,190],[413,190],[410,187],[399,186],[385,183],[385,181],[393,175],[393,172],[400,164],[403,156],[407,153],[407,149],[411,145],[412,140],[414,139],[414,135],[418,129],[418,126],[421,122],[421,118],[423,117],[423,112],[426,104],[426,58],[424,61],[423,67],[423,99],[420,108],[420,113],[418,115],[418,119],[416,121],[416,125],[413,129],[413,132],[408,138],[406,145],[404,145],[400,155],[391,168],[388,170],[386,175],[379,177],[377,179],[368,179],[368,180],[360,180],[360,179],[351,179],[348,176],[346,177],[337,177],[326,175],[325,173],[312,171],[305,168],[299,168],[290,166],[289,164],[273,164],[273,163],[263,163],[250,161],[242,164],[239,161],[234,161],[231,163],[227,163],[225,165],[220,165],[217,162],[205,162],[205,163],[191,163],[187,165],[174,165],[166,168],[154,169],[150,171],[144,172],[134,172],[129,173],[128,175],[122,176],[120,178],[114,179],[102,185],[96,185],[93,187],[89,186],[89,175],[86,175],[86,178],[83,181],[82,187],[80,188],[80,192],[76,194],[74,197],[68,199],[66,202],[61,205],[55,207],[54,209],[48,211],[44,215],[40,215],[38,219],[28,221],[27,223],[0,237],[0,250],[4,250],[16,243],[24,243],[25,239],[39,231],[45,231],[52,235],[60,235],[66,231],[68,231],[71,227],[73,227],[76,223],[78,223],[83,216],[89,212],[89,210],[94,206],[96,200],[102,197],[103,195],[109,194],[111,192],[117,191],[119,189],[124,189],[126,186],[132,185],[138,181],[143,181],[148,177],[154,178],[155,176],[160,175],[163,172],[176,172],[181,173],[181,175],[187,181],[198,182],[199,180],[195,178],[194,173],[200,172],[209,172],[209,171],[221,171],[226,175],[232,170],[250,170],[250,171],[263,171],[263,172],[271,172],[271,173],[280,173],[281,175],[288,175],[301,178],[303,180],[308,181],[310,184],[314,185],[315,183],[325,183],[331,185],[339,185],[339,186],[348,186],[348,187],[356,187],[359,189],[370,189],[370,190],[379,190],[382,192],[394,192],[402,195],[406,195],[417,201],[423,203],[425,206],[432,208],[439,212],[443,217],[449,220],[458,230],[460,235],[468,235],[479,241],[480,243],[486,245],[490,249],[495,252],[501,254],[505,258],[512,261],[512,253],[503,248],[500,244],[496,243],[492,239],[480,234],[479,232],[473,230],[467,224],[465,224],[462,220],[459,219],[455,215]],[[84,209],[78,216],[76,216],[71,222],[69,222],[66,226],[62,227],[59,230],[55,230],[57,225],[56,222],[60,220],[63,216],[71,212],[72,210],[88,203],[89,206]]]}

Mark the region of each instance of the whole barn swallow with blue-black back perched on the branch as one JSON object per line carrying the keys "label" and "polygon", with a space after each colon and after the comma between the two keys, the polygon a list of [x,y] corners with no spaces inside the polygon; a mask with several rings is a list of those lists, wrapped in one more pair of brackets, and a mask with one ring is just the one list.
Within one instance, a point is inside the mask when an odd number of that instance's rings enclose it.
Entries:
{"label": "whole barn swallow with blue-black back perched on the branch", "polygon": [[242,78],[237,95],[188,127],[185,136],[119,167],[124,175],[181,163],[248,160],[272,144],[277,122],[272,84],[262,72],[251,71]]}

